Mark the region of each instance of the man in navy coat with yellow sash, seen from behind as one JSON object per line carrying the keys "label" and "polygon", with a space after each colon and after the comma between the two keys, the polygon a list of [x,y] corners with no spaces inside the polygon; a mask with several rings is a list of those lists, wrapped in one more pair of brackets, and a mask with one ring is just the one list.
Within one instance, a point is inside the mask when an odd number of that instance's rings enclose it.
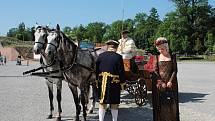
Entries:
{"label": "man in navy coat with yellow sash, seen from behind", "polygon": [[107,104],[111,107],[112,120],[117,121],[120,92],[125,87],[125,71],[122,56],[116,53],[119,43],[109,40],[106,44],[107,51],[100,54],[96,61],[99,121],[104,120]]}

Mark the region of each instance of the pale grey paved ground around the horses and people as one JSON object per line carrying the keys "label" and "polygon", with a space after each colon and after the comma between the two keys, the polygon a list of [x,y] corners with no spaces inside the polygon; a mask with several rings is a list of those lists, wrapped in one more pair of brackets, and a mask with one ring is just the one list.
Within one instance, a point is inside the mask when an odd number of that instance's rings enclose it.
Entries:
{"label": "pale grey paved ground around the horses and people", "polygon": [[[0,121],[55,120],[46,119],[49,113],[49,100],[45,79],[22,77],[23,71],[36,67],[38,67],[37,62],[31,62],[30,66],[16,66],[15,62],[0,66]],[[181,121],[215,121],[215,63],[180,62],[178,68]],[[56,95],[56,89],[54,91]],[[119,121],[152,121],[150,92],[148,99],[146,105],[138,107],[134,103],[134,98],[124,92]],[[57,110],[56,96],[54,104]],[[66,82],[63,82],[62,110],[62,121],[74,120],[75,106]],[[106,114],[105,121],[111,121],[110,113]],[[98,105],[87,119],[98,121]]]}

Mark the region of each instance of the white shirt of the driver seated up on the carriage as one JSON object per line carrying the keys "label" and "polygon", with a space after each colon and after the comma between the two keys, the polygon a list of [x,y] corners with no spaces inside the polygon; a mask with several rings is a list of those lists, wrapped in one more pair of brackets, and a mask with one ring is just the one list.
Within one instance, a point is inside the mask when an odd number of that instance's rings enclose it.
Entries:
{"label": "white shirt of the driver seated up on the carriage", "polygon": [[135,43],[134,40],[127,37],[122,38],[119,41],[119,46],[117,49],[117,53],[122,55],[123,59],[131,59],[135,55]]}

